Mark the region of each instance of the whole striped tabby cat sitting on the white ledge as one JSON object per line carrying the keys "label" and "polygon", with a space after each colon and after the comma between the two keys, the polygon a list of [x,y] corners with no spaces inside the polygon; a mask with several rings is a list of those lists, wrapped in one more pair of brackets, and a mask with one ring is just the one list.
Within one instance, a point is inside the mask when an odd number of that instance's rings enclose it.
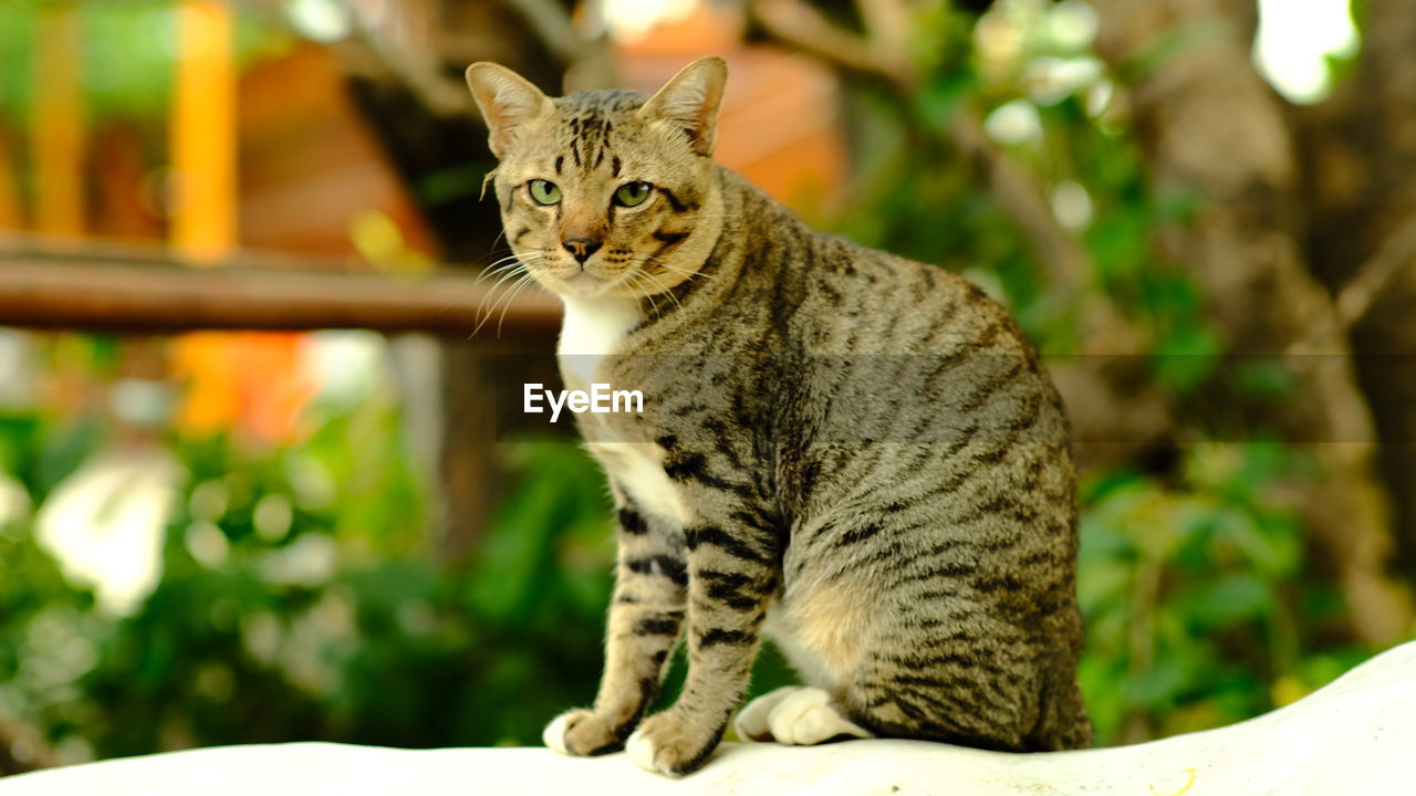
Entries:
{"label": "whole striped tabby cat sitting on the white ledge", "polygon": [[[743,708],[743,739],[1089,745],[1070,432],[1007,312],[716,166],[721,58],[653,96],[466,76],[514,266],[565,305],[566,387],[643,394],[578,416],[619,562],[595,704],[545,744],[692,772],[766,633],[806,686]],[[680,637],[683,691],[646,717]]]}

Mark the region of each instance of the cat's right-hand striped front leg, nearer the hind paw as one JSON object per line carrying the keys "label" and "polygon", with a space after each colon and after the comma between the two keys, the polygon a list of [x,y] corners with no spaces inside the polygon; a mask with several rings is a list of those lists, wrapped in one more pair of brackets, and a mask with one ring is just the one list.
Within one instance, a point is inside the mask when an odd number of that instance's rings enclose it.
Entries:
{"label": "cat's right-hand striped front leg, nearer the hind paw", "polygon": [[640,768],[680,776],[718,746],[752,673],[770,595],[780,576],[780,538],[735,520],[698,524],[688,547],[688,678],[671,708],[644,720],[626,748]]}

